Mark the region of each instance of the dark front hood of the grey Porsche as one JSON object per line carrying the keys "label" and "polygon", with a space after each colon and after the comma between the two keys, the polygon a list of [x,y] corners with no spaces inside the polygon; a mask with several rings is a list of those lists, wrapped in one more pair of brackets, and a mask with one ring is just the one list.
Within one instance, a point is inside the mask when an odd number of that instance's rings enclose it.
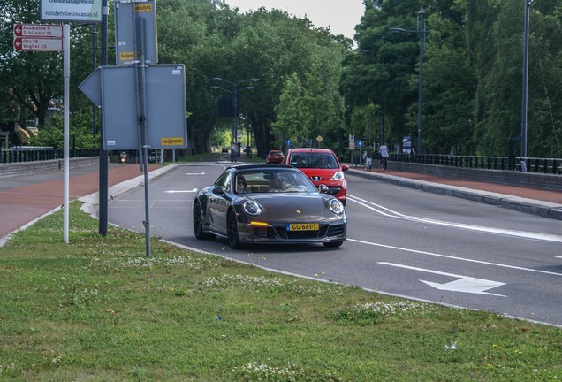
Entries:
{"label": "dark front hood of the grey Porsche", "polygon": [[262,194],[252,195],[248,199],[262,206],[260,218],[270,221],[286,220],[308,221],[311,219],[327,220],[337,217],[328,207],[327,195],[323,194]]}

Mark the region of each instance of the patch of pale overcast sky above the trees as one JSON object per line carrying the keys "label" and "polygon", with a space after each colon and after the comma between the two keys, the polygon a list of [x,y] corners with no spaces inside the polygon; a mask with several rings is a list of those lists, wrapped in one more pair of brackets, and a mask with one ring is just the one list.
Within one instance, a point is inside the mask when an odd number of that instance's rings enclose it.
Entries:
{"label": "patch of pale overcast sky above the trees", "polygon": [[365,11],[363,0],[225,0],[225,3],[238,7],[242,13],[265,7],[277,8],[292,16],[307,16],[315,27],[330,27],[332,34],[343,34],[351,39]]}

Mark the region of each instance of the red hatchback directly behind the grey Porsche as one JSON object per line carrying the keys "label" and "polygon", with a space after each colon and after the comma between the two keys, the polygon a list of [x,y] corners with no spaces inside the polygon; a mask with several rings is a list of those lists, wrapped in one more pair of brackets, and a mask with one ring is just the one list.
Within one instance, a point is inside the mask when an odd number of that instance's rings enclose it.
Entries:
{"label": "red hatchback directly behind the grey Porsche", "polygon": [[289,149],[284,164],[297,167],[304,172],[315,187],[321,184],[329,189],[340,202],[346,205],[347,180],[344,172],[349,170],[347,164],[340,164],[336,154],[330,149]]}

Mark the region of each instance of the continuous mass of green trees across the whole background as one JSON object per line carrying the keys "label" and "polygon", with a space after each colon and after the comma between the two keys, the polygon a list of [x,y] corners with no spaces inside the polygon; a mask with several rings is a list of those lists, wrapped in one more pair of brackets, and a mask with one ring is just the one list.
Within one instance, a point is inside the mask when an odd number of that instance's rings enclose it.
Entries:
{"label": "continuous mass of green trees across the whole background", "polygon": [[[240,13],[222,0],[158,0],[158,60],[186,65],[190,152],[208,152],[230,119],[216,114],[211,86],[220,77],[253,90],[239,92],[241,128],[251,128],[258,153],[287,139],[305,145],[316,136],[341,154],[347,134],[398,143],[417,134],[418,0],[364,0],[356,46],[306,18],[261,8]],[[508,154],[521,130],[524,2],[426,0],[423,52],[423,149],[463,155]],[[57,143],[49,107],[62,108],[62,54],[17,52],[15,22],[38,23],[38,0],[0,4],[0,121],[26,126],[36,118]],[[562,156],[562,4],[534,0],[530,9],[528,155]],[[113,41],[110,7],[109,42]],[[99,65],[100,26],[72,25],[71,134],[96,146],[100,113],[78,89]],[[109,55],[110,65],[114,58]],[[93,63],[95,61],[95,64]],[[224,83],[228,88],[228,83]],[[242,86],[242,85],[240,85]],[[232,90],[232,88],[230,89]],[[50,137],[50,138],[49,138]],[[314,141],[315,145],[319,143]],[[369,142],[370,143],[370,142]],[[517,152],[515,153],[517,154]]]}

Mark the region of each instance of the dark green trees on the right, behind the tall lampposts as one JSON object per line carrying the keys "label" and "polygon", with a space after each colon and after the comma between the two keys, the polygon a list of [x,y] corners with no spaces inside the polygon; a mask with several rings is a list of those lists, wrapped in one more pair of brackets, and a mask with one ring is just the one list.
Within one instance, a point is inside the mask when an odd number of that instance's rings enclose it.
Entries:
{"label": "dark green trees on the right, behind the tall lampposts", "polygon": [[[372,103],[386,118],[387,137],[415,136],[419,45],[414,0],[365,2],[358,48],[344,61],[340,90],[349,133],[355,108]],[[423,53],[425,152],[508,155],[520,135],[524,2],[427,0]],[[528,155],[562,154],[558,87],[562,4],[535,0],[530,11]],[[547,80],[549,79],[549,80]],[[517,154],[517,153],[515,153]]]}

